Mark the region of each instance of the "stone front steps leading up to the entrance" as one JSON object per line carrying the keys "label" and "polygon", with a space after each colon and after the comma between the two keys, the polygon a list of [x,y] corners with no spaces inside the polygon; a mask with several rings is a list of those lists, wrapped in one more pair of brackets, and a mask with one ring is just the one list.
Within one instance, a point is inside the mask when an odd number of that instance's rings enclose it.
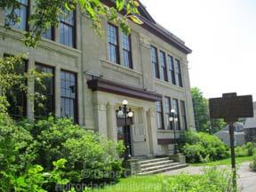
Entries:
{"label": "stone front steps leading up to the entrance", "polygon": [[141,172],[138,175],[156,174],[160,172],[169,172],[176,169],[187,167],[188,164],[180,164],[171,160],[169,157],[153,158],[140,160]]}

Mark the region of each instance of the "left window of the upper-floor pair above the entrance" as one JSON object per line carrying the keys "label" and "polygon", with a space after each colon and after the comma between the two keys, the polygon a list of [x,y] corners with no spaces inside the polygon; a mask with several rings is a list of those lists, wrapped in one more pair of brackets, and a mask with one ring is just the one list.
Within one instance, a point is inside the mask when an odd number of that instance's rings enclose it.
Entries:
{"label": "left window of the upper-floor pair above the entrance", "polygon": [[114,63],[119,63],[118,29],[108,23],[108,58]]}

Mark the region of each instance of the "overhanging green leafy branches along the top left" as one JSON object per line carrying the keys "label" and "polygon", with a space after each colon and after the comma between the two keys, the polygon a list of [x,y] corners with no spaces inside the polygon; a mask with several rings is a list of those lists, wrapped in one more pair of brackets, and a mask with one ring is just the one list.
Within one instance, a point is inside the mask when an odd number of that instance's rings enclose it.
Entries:
{"label": "overhanging green leafy branches along the top left", "polygon": [[[108,7],[101,4],[100,0],[36,0],[35,11],[29,16],[29,31],[25,33],[24,43],[30,47],[36,47],[42,32],[48,28],[58,28],[61,17],[66,17],[67,12],[79,9],[79,11],[92,21],[92,28],[100,34],[100,19],[106,18],[109,21],[120,24],[125,33],[130,32],[128,20],[141,24],[139,15],[139,3],[136,0],[116,0],[116,6]],[[20,8],[16,0],[1,0],[0,8],[8,9],[10,12],[5,18],[5,27],[10,28],[15,23],[20,22],[20,18],[15,12]],[[119,12],[124,12],[124,16],[119,16]]]}

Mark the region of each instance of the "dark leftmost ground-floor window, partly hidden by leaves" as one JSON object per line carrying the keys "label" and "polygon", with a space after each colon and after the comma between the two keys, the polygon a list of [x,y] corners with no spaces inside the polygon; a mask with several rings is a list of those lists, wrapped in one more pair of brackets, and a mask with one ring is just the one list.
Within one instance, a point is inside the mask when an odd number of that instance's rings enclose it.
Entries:
{"label": "dark leftmost ground-floor window, partly hidden by leaves", "polygon": [[[9,55],[4,55],[4,58],[12,57]],[[23,60],[22,63],[17,63],[14,65],[14,71],[17,76],[24,75],[27,71],[28,61]],[[24,80],[22,84],[27,85],[27,81]],[[8,107],[8,113],[14,119],[20,119],[27,115],[27,96],[26,92],[20,90],[20,84],[15,84],[9,89],[5,94],[8,103],[10,106]]]}

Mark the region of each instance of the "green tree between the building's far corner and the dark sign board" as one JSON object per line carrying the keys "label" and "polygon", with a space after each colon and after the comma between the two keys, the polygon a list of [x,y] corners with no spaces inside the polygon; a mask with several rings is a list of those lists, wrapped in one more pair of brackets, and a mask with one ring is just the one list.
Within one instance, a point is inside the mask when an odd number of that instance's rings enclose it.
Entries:
{"label": "green tree between the building's far corner and the dark sign board", "polygon": [[225,122],[222,119],[210,120],[209,100],[204,98],[204,93],[197,87],[191,89],[196,130],[199,132],[219,132]]}

